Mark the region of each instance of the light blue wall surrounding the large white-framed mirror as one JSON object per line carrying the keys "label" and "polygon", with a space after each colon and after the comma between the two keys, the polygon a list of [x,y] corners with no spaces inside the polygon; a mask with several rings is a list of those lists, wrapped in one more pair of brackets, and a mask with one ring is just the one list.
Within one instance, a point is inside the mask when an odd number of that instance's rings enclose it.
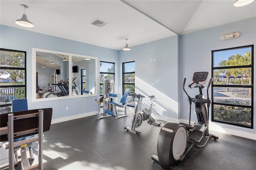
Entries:
{"label": "light blue wall surrounding the large white-framed mirror", "polygon": [[[31,30],[33,30],[33,28],[31,28]],[[36,76],[36,73],[32,73],[32,47],[98,57],[98,65],[100,65],[99,61],[102,61],[102,60],[118,63],[118,51],[114,49],[108,49],[108,48],[99,47],[99,46],[91,45],[87,43],[76,42],[76,41],[58,38],[54,36],[48,36],[45,34],[39,34],[36,32],[8,27],[4,25],[0,25],[0,35],[1,35],[1,39],[0,39],[1,48],[14,49],[14,50],[27,52],[27,82],[26,83],[27,83],[27,98],[28,98],[29,109],[52,107],[53,108],[52,119],[70,117],[70,116],[80,115],[84,113],[92,113],[92,112],[96,113],[97,111],[97,103],[95,101],[96,97],[83,97],[83,98],[77,98],[77,99],[32,102],[31,89],[33,85],[31,82],[32,82],[32,76]],[[116,73],[118,74],[117,68],[116,68]],[[116,77],[116,81],[118,81],[118,77]],[[99,82],[99,79],[97,79],[96,82]],[[98,94],[99,94],[99,89],[98,89]],[[66,107],[69,107],[68,111],[66,111]]]}

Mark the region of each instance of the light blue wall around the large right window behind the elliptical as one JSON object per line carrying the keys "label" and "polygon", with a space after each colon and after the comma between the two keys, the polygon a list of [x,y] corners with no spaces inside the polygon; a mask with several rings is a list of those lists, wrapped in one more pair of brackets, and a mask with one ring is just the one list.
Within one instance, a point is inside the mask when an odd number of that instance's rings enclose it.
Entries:
{"label": "light blue wall around the large right window behind the elliptical", "polygon": [[[240,37],[233,40],[221,41],[220,36],[230,32],[240,32]],[[198,32],[192,32],[180,36],[180,56],[179,56],[179,113],[180,119],[189,119],[189,103],[186,94],[182,90],[183,79],[187,78],[187,83],[192,82],[193,73],[196,71],[210,71],[211,72],[211,51],[216,49],[225,49],[230,47],[238,47],[243,45],[254,44],[254,56],[256,56],[256,18],[234,22]],[[256,59],[254,59],[256,65]],[[254,69],[254,75],[255,69]],[[255,76],[254,76],[255,77]],[[186,84],[187,84],[186,83]],[[187,88],[188,89],[188,88]],[[254,90],[254,106],[256,105]],[[206,94],[206,91],[204,91]],[[198,91],[188,89],[190,96],[195,96]],[[209,92],[210,93],[210,92]],[[210,93],[211,94],[211,93]],[[193,107],[192,107],[193,108]],[[256,125],[256,109],[254,109],[254,127]],[[211,115],[211,112],[210,112]],[[211,117],[211,116],[210,116]],[[196,115],[192,114],[192,121],[196,121]],[[225,124],[216,123],[222,128],[248,132],[249,134],[256,134],[256,130],[240,128]]]}

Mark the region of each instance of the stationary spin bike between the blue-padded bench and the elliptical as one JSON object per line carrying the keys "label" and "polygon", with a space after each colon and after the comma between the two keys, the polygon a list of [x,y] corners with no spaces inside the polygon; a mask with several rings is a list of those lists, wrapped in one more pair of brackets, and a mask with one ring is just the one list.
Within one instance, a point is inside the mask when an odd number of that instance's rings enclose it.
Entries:
{"label": "stationary spin bike between the blue-padded bench and the elliptical", "polygon": [[153,102],[154,102],[154,99],[156,99],[155,96],[148,97],[148,98],[150,98],[150,101],[151,101],[150,109],[146,109],[142,106],[142,99],[145,96],[140,95],[140,94],[137,95],[135,93],[130,96],[132,96],[133,98],[135,98],[137,100],[137,105],[135,107],[134,115],[132,117],[132,128],[124,127],[124,129],[126,129],[127,131],[134,132],[136,134],[140,134],[141,132],[138,130],[135,130],[135,128],[140,127],[142,122],[145,120],[148,120],[148,123],[150,125],[157,125],[157,126],[161,125],[161,123],[156,122],[155,119],[151,116]]}

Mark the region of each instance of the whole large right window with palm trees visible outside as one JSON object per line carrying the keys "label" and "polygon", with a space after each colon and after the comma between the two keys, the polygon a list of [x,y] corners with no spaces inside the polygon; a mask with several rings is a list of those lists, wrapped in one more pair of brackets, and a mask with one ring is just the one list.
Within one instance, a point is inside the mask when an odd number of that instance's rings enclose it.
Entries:
{"label": "whole large right window with palm trees visible outside", "polygon": [[253,49],[212,51],[212,121],[253,128]]}

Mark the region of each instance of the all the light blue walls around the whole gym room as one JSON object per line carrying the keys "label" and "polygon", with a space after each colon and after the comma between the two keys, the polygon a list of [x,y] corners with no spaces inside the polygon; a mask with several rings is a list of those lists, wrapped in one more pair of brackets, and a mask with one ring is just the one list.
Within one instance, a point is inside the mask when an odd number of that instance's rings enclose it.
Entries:
{"label": "all the light blue walls around the whole gym room", "polygon": [[[98,65],[100,61],[114,62],[115,91],[119,96],[122,96],[122,63],[135,61],[136,93],[142,93],[146,96],[155,95],[157,100],[154,111],[158,115],[174,121],[180,119],[181,122],[186,122],[189,117],[189,103],[182,90],[184,77],[189,83],[194,72],[211,71],[212,50],[256,44],[256,18],[145,43],[132,47],[130,51],[116,51],[2,25],[0,31],[1,48],[27,51],[29,109],[52,107],[54,109],[53,119],[96,111],[96,97],[32,103],[32,94],[29,91],[32,88],[30,82],[32,82],[31,77],[33,75],[31,70],[32,47],[96,56],[98,57]],[[234,40],[220,40],[221,35],[230,32],[240,32],[241,35]],[[254,56],[256,56],[255,49]],[[154,58],[156,62],[151,62],[150,59],[154,60]],[[255,64],[256,60],[254,59]],[[96,82],[99,82],[99,77]],[[188,92],[190,96],[198,93],[198,91],[190,89]],[[255,93],[256,90],[254,90],[254,106],[256,104]],[[144,101],[149,103],[146,98]],[[65,110],[66,106],[70,108],[69,111]],[[256,125],[255,110],[254,126]],[[192,114],[192,121],[196,121],[194,114]],[[255,128],[252,130],[220,123],[217,125],[225,130],[235,131],[233,134],[236,132],[256,134]]]}

